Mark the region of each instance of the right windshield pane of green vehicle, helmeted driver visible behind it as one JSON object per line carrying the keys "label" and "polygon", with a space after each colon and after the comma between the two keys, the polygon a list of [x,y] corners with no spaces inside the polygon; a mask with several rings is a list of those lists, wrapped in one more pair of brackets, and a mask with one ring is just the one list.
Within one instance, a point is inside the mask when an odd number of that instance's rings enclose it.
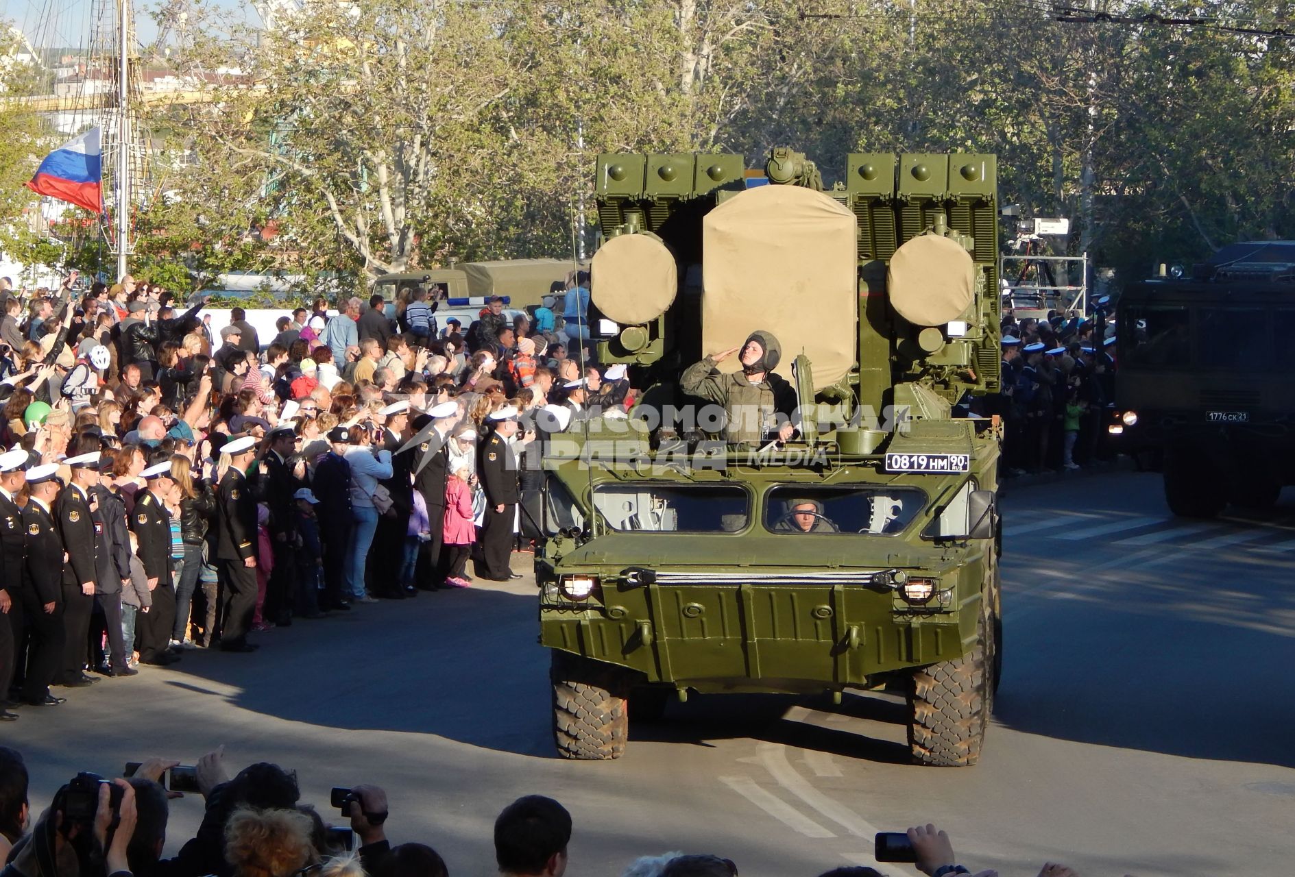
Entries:
{"label": "right windshield pane of green vehicle, helmeted driver visible behind it", "polygon": [[917,488],[799,488],[769,490],[764,502],[764,525],[774,533],[868,533],[886,536],[904,532],[926,506]]}

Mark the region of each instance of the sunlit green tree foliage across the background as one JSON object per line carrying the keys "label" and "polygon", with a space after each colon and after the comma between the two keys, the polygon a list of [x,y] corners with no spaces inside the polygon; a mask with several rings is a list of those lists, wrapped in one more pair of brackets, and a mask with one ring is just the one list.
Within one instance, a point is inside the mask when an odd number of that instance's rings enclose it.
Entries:
{"label": "sunlit green tree foliage across the background", "polygon": [[[1292,6],[1096,3],[1251,25]],[[260,34],[219,9],[190,4],[174,61],[242,76],[153,120],[170,195],[141,213],[136,264],[176,287],[246,269],[308,296],[592,250],[593,158],[625,150],[754,164],[786,144],[829,184],[851,151],[996,153],[1002,202],[1070,217],[1054,248],[1120,277],[1295,237],[1292,40],[1024,0],[357,0]]]}

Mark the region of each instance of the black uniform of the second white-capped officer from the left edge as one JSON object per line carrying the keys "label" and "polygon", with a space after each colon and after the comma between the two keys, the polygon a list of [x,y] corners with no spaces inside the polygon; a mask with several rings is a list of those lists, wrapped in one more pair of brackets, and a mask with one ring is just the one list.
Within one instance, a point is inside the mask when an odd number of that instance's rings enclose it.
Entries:
{"label": "black uniform of the second white-capped officer from the left edge", "polygon": [[[22,609],[30,633],[22,700],[43,704],[63,658],[63,541],[54,517],[36,499],[22,510],[22,529],[27,534]],[[45,612],[51,604],[53,612]]]}

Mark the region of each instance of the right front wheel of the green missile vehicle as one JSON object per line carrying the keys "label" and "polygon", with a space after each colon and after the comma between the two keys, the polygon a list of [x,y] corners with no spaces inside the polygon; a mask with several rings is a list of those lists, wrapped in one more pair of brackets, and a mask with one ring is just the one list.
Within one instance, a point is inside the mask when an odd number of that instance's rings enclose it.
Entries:
{"label": "right front wheel of the green missile vehicle", "polygon": [[993,630],[985,607],[970,652],[913,673],[908,689],[908,748],[916,763],[969,767],[980,759],[993,709]]}

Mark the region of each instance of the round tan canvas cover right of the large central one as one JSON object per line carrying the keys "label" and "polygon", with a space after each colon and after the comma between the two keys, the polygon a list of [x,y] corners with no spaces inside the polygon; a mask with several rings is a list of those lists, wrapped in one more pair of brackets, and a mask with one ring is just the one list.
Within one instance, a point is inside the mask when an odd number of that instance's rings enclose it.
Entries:
{"label": "round tan canvas cover right of the large central one", "polygon": [[975,264],[957,241],[923,234],[891,256],[886,290],[904,319],[914,326],[943,326],[971,305]]}

